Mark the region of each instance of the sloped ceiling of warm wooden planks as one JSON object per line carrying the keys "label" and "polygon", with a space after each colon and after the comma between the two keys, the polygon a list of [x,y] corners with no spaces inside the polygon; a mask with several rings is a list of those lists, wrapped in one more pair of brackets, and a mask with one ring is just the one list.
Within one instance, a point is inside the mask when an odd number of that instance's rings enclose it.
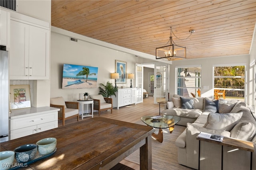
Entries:
{"label": "sloped ceiling of warm wooden planks", "polygon": [[[187,59],[249,54],[255,0],[52,0],[52,26],[155,55],[170,27]],[[195,30],[186,39],[190,30]],[[186,40],[179,40],[186,39]]]}

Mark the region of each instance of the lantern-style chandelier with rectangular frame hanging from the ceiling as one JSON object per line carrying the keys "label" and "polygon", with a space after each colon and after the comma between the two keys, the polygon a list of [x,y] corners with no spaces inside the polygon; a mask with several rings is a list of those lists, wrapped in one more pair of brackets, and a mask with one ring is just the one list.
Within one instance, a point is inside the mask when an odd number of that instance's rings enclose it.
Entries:
{"label": "lantern-style chandelier with rectangular frame hanging from the ceiling", "polygon": [[[188,39],[191,36],[191,34],[195,32],[195,30],[190,30],[189,32],[190,32],[190,35],[187,38],[182,39],[182,40]],[[170,42],[170,45],[165,45],[163,47],[156,48],[156,59],[167,59],[169,61],[178,60],[178,59],[186,59],[186,47],[182,47],[182,46],[174,43],[174,41],[172,40],[172,34],[175,36],[175,34],[172,32],[172,27],[171,27],[170,39],[166,43],[166,44],[168,44]],[[176,38],[178,38],[178,37],[176,37]],[[181,39],[179,39],[179,40],[181,40]]]}

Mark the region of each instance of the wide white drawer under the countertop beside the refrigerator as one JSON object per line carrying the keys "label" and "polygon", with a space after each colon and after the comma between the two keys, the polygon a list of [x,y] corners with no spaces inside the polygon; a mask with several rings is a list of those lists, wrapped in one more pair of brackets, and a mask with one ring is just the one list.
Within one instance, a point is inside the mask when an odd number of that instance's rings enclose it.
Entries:
{"label": "wide white drawer under the countertop beside the refrigerator", "polygon": [[22,117],[18,119],[10,120],[10,130],[15,130],[24,127],[30,127],[33,125],[39,125],[42,123],[48,123],[52,121],[58,121],[58,112],[47,113],[43,115],[36,115],[30,117]]}

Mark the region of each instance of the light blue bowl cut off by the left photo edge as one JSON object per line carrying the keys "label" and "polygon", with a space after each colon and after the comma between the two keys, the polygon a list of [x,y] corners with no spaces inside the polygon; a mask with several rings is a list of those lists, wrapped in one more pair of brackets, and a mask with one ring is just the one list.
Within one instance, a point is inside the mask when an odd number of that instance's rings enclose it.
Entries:
{"label": "light blue bowl cut off by the left photo edge", "polygon": [[12,168],[10,164],[14,161],[15,152],[13,151],[2,151],[0,152],[0,166],[1,170],[8,170]]}

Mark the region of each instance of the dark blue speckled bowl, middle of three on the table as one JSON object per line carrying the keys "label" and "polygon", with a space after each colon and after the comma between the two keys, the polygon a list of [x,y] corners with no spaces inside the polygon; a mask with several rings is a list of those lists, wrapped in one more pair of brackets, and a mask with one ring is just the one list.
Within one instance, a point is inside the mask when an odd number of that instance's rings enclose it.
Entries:
{"label": "dark blue speckled bowl, middle of three on the table", "polygon": [[24,144],[14,150],[15,158],[18,163],[25,163],[33,160],[36,156],[37,145],[36,144]]}

